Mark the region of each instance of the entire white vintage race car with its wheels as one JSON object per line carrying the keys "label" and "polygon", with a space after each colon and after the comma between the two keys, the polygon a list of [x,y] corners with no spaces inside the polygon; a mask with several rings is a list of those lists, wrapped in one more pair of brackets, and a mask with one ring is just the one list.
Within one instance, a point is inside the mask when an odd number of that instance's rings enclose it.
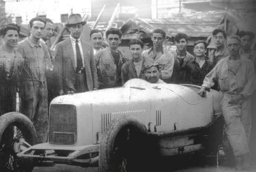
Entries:
{"label": "entire white vintage race car with its wheels", "polygon": [[49,110],[48,142],[37,145],[26,116],[4,114],[0,169],[31,172],[35,162],[51,160],[99,165],[100,172],[135,172],[160,156],[216,153],[223,128],[220,95],[210,90],[202,98],[199,89],[131,79],[122,87],[56,97]]}

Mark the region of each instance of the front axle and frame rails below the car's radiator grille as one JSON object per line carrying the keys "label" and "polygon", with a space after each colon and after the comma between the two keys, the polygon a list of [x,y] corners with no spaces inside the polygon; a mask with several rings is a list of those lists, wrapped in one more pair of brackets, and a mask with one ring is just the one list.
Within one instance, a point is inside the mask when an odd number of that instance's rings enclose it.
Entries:
{"label": "front axle and frame rails below the car's radiator grille", "polygon": [[59,164],[97,166],[100,144],[88,146],[55,146],[42,143],[17,153],[17,157],[31,160],[52,160]]}

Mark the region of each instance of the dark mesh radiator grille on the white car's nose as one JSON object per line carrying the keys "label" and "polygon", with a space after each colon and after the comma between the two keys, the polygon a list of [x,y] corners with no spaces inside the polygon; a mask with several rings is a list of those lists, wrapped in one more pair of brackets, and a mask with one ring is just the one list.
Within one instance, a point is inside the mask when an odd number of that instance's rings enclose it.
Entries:
{"label": "dark mesh radiator grille on the white car's nose", "polygon": [[50,107],[49,143],[74,145],[77,141],[76,108],[74,105]]}

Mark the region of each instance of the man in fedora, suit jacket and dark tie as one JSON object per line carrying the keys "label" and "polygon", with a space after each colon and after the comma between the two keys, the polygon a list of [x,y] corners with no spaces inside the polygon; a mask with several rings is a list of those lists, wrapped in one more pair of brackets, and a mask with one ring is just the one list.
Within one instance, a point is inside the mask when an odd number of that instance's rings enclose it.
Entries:
{"label": "man in fedora, suit jacket and dark tie", "polygon": [[55,56],[61,60],[64,70],[60,94],[81,93],[98,88],[93,47],[80,38],[85,24],[80,14],[71,14],[66,24],[70,37],[56,45]]}

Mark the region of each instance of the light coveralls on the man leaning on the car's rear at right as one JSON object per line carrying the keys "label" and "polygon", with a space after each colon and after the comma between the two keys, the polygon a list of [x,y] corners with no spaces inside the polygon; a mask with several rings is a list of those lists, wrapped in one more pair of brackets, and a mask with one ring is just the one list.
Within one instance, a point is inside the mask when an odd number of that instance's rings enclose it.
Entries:
{"label": "light coveralls on the man leaning on the car's rear at right", "polygon": [[[229,56],[220,60],[204,81],[205,87],[214,86],[214,78],[218,79],[222,97],[222,112],[226,123],[226,133],[235,156],[249,152],[249,136],[251,131],[250,95],[255,90],[256,76],[251,60],[240,58],[230,60]],[[238,94],[245,100],[236,105],[228,102]]]}

